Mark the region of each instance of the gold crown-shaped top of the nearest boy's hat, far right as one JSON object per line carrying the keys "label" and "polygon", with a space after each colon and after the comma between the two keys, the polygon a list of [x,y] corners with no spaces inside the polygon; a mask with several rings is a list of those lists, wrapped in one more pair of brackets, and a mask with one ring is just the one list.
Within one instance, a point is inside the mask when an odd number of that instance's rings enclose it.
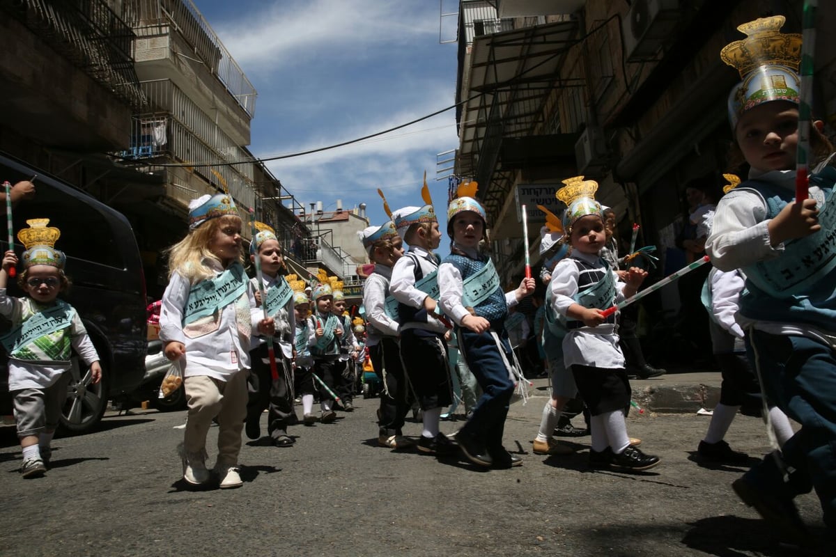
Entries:
{"label": "gold crown-shaped top of the nearest boy's hat, far right", "polygon": [[783,16],[772,16],[739,25],[737,30],[747,37],[726,44],[720,51],[720,58],[732,68],[737,68],[741,78],[766,64],[787,66],[798,71],[801,34],[781,33],[786,20]]}

